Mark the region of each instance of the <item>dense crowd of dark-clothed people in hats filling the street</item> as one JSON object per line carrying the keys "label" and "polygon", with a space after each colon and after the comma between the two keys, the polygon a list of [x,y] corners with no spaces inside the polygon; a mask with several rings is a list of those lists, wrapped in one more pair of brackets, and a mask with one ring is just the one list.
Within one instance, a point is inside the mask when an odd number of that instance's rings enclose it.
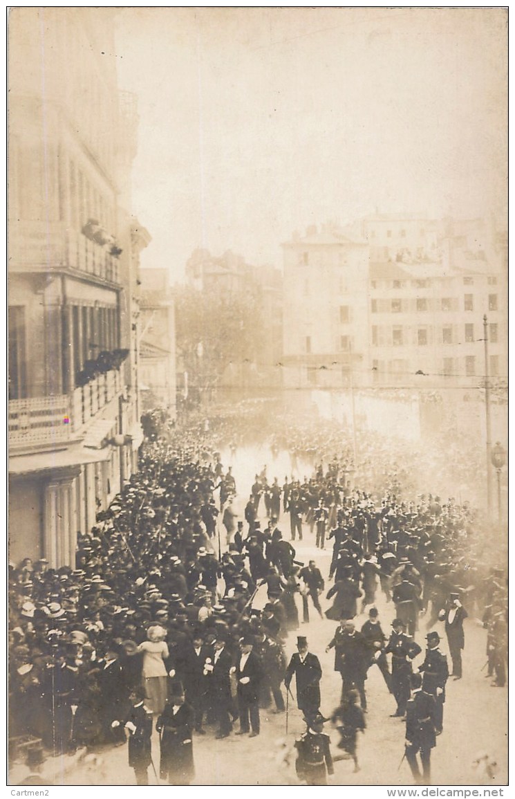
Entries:
{"label": "dense crowd of dark-clothed people in hats filling the street", "polygon": [[[488,674],[505,685],[505,574],[482,558],[473,511],[434,495],[403,500],[391,471],[385,493],[357,490],[344,452],[303,480],[279,485],[266,469],[256,474],[246,525],[236,528],[226,516],[236,482],[219,443],[204,426],[168,429],[164,439],[156,432],[137,474],[79,536],[74,568],[53,569],[45,559],[10,565],[10,737],[41,738],[50,753],[128,737],[129,765],[141,785],[155,720],[160,776],[189,784],[194,736],[256,737],[259,710],[283,713],[283,692],[295,676],[307,725],[296,745],[297,771],[320,784],[336,758],[323,733],[319,659],[302,635],[290,662],[284,649],[300,627],[299,596],[302,622],[311,606],[339,622],[327,643],[342,679],[332,717],[341,733],[336,757],[351,757],[359,769],[366,674],[377,665],[394,715],[406,717],[406,760],[419,779],[420,752],[428,781],[449,678],[435,623],[445,621],[459,679],[465,607],[482,618]],[[320,550],[332,547],[325,577],[315,561],[296,559],[295,540],[310,531]],[[257,610],[260,586],[267,601]],[[326,611],[324,591],[332,600]],[[391,634],[378,619],[379,592],[395,608]],[[366,608],[369,618],[357,630],[355,618]],[[422,619],[426,657],[413,673]]]}

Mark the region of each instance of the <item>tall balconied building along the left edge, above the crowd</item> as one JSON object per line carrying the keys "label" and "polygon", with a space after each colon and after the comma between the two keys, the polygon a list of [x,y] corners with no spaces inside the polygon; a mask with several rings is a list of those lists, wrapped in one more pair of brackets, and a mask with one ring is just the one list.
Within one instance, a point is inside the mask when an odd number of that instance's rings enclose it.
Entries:
{"label": "tall balconied building along the left edge, above the crowd", "polygon": [[149,234],[129,215],[137,113],[109,10],[14,9],[10,53],[10,559],[55,567],[137,467]]}

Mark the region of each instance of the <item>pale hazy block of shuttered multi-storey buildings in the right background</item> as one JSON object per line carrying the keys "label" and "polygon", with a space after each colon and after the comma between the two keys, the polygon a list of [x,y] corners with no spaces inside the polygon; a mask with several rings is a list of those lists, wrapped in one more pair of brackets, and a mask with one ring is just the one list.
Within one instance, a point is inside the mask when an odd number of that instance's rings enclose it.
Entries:
{"label": "pale hazy block of shuttered multi-storey buildings in the right background", "polygon": [[[285,387],[439,392],[458,418],[460,403],[484,402],[485,376],[502,392],[508,270],[483,221],[376,215],[345,231],[311,227],[283,244],[283,262]],[[496,431],[505,435],[502,423]]]}

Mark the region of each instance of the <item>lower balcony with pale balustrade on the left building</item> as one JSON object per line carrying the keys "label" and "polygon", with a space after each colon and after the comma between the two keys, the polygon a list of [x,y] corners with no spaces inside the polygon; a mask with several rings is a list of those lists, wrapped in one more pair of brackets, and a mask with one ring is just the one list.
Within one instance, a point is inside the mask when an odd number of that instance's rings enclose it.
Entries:
{"label": "lower balcony with pale balustrade on the left building", "polygon": [[122,388],[121,373],[113,369],[71,394],[10,400],[10,451],[50,449],[83,438],[89,422]]}

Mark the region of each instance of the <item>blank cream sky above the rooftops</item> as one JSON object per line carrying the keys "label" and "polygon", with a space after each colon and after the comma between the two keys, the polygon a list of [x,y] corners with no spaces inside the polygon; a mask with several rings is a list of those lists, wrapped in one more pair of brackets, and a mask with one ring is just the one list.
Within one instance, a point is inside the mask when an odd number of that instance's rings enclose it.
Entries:
{"label": "blank cream sky above the rooftops", "polygon": [[329,219],[505,211],[501,9],[121,8],[137,93],[133,210],[144,266],[192,249],[282,264]]}

